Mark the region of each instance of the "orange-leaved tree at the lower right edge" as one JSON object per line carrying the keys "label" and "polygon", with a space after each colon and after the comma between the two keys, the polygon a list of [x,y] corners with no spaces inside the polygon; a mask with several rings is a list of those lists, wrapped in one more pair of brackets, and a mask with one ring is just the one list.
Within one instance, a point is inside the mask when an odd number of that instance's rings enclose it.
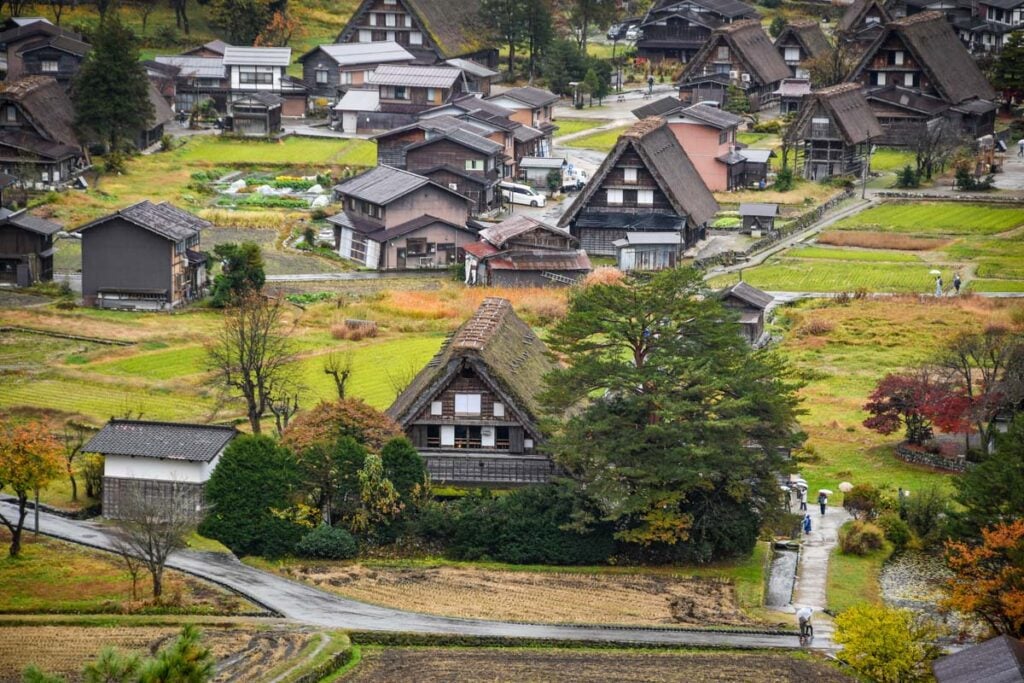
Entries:
{"label": "orange-leaved tree at the lower right edge", "polygon": [[947,606],[983,618],[996,631],[1024,636],[1024,519],[981,530],[974,546],[946,542],[953,570]]}

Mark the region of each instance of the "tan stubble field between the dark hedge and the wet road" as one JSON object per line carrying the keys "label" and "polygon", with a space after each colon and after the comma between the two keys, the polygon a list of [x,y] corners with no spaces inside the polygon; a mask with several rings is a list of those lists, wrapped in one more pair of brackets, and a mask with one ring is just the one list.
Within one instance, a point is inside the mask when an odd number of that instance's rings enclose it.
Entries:
{"label": "tan stubble field between the dark hedge and the wet road", "polygon": [[314,586],[399,609],[551,624],[749,626],[727,581],[657,573],[503,571],[470,567],[293,565]]}

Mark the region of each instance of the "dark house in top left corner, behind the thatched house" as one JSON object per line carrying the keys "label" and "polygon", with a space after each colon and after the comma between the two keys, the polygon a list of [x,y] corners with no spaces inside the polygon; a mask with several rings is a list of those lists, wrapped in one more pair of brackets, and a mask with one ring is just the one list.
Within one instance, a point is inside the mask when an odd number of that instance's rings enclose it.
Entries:
{"label": "dark house in top left corner, behind the thatched house", "polygon": [[80,34],[53,26],[42,17],[26,17],[0,33],[6,56],[6,80],[23,76],[48,76],[66,89],[82,68],[89,44]]}

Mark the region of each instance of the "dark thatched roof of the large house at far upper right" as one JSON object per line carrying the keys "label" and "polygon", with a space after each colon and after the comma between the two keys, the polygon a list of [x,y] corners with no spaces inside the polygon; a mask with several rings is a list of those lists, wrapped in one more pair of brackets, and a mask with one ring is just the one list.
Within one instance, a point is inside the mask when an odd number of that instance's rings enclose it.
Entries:
{"label": "dark thatched roof of the large house at far upper right", "polygon": [[942,12],[922,12],[886,25],[885,31],[864,51],[853,71],[853,79],[871,63],[893,34],[903,40],[935,89],[950,104],[973,98],[995,98],[992,86]]}

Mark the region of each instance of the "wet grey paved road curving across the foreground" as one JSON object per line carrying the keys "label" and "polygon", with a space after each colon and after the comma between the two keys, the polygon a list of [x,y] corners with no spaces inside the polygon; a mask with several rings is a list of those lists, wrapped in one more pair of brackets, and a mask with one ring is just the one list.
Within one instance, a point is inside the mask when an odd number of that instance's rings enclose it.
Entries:
{"label": "wet grey paved road curving across the foreground", "polygon": [[[14,511],[0,503],[4,514]],[[109,530],[92,521],[73,521],[48,513],[40,515],[40,530],[48,536],[100,549],[110,549]],[[32,516],[29,517],[31,524]],[[503,636],[545,640],[631,642],[729,648],[799,648],[796,636],[682,631],[678,629],[547,626],[432,616],[348,600],[289,581],[219,553],[175,553],[168,566],[230,588],[288,618],[321,627],[357,631],[392,631],[467,636]]]}

